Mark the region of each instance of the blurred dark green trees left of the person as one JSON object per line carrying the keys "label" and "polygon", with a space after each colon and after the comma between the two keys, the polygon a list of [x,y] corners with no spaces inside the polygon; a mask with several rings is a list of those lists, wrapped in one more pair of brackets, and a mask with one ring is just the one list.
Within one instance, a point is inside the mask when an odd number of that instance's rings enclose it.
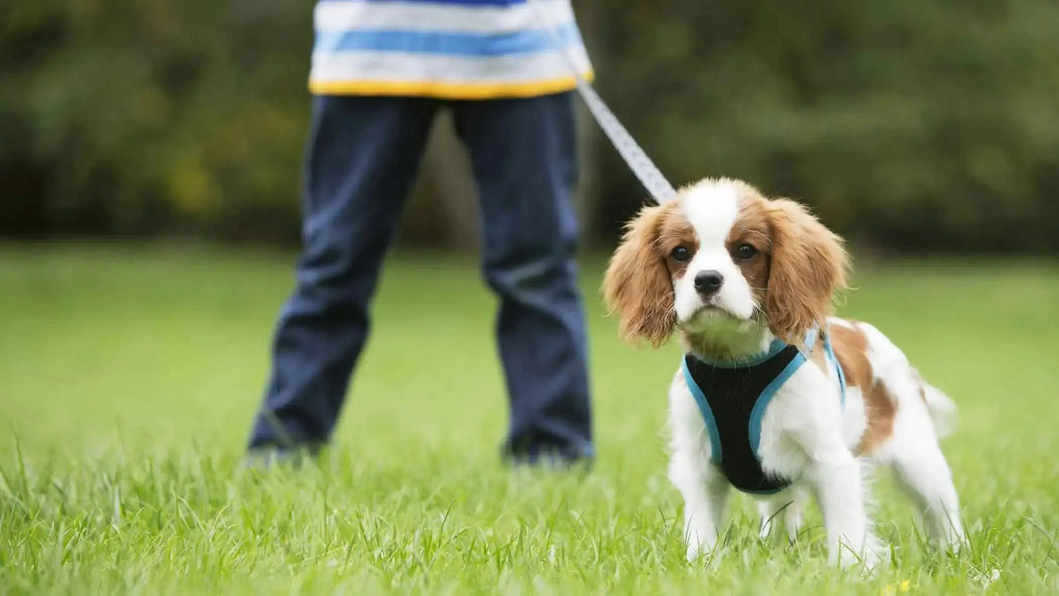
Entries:
{"label": "blurred dark green trees left of the person", "polygon": [[0,224],[297,238],[311,11],[309,0],[8,0]]}

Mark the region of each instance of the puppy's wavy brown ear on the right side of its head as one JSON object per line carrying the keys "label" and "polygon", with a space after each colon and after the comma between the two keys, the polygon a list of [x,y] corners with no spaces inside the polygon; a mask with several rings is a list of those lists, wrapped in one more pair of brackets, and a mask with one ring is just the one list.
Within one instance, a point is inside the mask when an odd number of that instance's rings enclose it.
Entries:
{"label": "puppy's wavy brown ear on the right side of its head", "polygon": [[800,344],[812,327],[823,326],[834,293],[846,286],[849,256],[842,238],[791,200],[769,201],[772,266],[765,312],[769,328]]}

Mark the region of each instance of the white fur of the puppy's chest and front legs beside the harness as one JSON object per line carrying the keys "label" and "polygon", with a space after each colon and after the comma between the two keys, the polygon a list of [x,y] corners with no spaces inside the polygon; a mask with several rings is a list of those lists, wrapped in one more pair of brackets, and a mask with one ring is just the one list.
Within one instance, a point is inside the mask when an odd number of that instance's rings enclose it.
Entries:
{"label": "white fur of the puppy's chest and front legs beside the harness", "polygon": [[[710,460],[705,423],[682,376],[670,387],[669,405],[669,477],[684,496],[692,559],[716,544],[729,484]],[[843,436],[841,417],[837,385],[819,367],[806,363],[766,409],[758,454],[767,473],[796,478],[789,489],[769,496],[778,504],[775,508],[791,501],[802,503],[804,499],[796,495],[812,491],[824,513],[829,557],[844,563],[860,558],[874,564],[882,552],[868,527],[861,464]],[[775,508],[767,509],[766,520]],[[801,507],[785,514],[790,516],[789,521],[785,519],[788,534],[796,536]]]}

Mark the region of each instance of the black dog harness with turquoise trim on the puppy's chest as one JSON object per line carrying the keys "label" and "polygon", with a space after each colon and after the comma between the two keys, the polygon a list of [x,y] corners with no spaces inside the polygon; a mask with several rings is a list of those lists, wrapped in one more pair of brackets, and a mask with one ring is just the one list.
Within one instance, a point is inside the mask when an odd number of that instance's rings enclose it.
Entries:
{"label": "black dog harness with turquoise trim on the puppy's chest", "polygon": [[[766,474],[761,469],[757,452],[761,444],[761,419],[779,387],[805,364],[805,354],[812,351],[818,336],[818,329],[806,335],[804,354],[793,345],[774,340],[768,353],[752,360],[711,361],[690,354],[684,356],[684,381],[706,422],[710,458],[732,486],[742,492],[771,494],[790,485],[789,478]],[[838,374],[845,405],[845,375],[826,333],[824,354]]]}

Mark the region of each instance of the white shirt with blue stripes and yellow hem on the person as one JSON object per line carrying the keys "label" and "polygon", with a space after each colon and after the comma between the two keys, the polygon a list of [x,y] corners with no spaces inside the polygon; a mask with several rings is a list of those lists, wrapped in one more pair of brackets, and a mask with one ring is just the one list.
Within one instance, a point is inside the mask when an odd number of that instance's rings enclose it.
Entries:
{"label": "white shirt with blue stripes and yellow hem on the person", "polygon": [[591,79],[569,0],[320,0],[309,90],[487,100],[574,89],[535,7]]}

